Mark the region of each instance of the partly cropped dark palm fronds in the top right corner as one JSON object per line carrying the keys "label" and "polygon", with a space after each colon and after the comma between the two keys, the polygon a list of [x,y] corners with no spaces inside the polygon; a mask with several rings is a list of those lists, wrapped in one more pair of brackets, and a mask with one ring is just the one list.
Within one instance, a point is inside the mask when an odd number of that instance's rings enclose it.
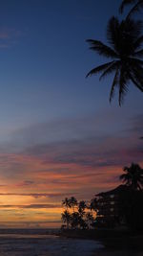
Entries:
{"label": "partly cropped dark palm fronds in the top right corner", "polygon": [[132,4],[133,4],[133,8],[128,13],[127,18],[129,18],[134,12],[138,12],[140,11],[141,8],[143,8],[143,0],[123,0],[120,6],[119,12],[122,13],[126,6],[129,6]]}

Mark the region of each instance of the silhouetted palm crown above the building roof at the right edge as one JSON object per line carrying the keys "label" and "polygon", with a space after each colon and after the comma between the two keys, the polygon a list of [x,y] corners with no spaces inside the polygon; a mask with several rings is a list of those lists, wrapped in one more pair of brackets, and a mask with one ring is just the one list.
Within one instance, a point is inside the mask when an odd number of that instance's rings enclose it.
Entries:
{"label": "silhouetted palm crown above the building roof at the right edge", "polygon": [[138,164],[132,164],[130,167],[124,167],[124,175],[120,179],[130,186],[133,190],[143,189],[143,169]]}

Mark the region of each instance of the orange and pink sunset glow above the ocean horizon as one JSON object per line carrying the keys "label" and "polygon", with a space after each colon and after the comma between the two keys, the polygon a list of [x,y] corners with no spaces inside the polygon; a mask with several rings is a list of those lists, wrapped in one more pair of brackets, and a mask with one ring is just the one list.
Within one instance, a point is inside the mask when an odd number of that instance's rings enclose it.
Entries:
{"label": "orange and pink sunset glow above the ocean horizon", "polygon": [[[38,157],[12,154],[12,161],[19,166],[12,178],[11,154],[10,166],[8,159],[7,155],[0,186],[0,218],[4,227],[12,223],[17,227],[58,227],[62,199],[71,196],[91,199],[94,194],[117,186],[117,176],[122,172],[119,166],[94,168],[72,163],[45,163]],[[1,158],[1,167],[4,163]],[[9,174],[7,178],[6,174]]]}

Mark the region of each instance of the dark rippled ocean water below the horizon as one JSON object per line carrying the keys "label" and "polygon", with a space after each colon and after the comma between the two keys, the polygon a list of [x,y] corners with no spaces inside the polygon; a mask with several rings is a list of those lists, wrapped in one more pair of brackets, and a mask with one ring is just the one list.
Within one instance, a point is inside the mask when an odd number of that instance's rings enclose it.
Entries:
{"label": "dark rippled ocean water below the horizon", "polygon": [[0,256],[91,256],[102,244],[36,232],[0,234]]}

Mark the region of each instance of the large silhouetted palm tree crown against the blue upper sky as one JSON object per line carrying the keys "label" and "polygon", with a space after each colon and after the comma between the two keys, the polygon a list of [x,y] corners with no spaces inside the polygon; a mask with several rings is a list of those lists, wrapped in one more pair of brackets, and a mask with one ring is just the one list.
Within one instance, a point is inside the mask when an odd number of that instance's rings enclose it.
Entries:
{"label": "large silhouetted palm tree crown against the blue upper sky", "polygon": [[143,35],[141,21],[126,19],[121,22],[112,17],[107,28],[109,45],[99,40],[88,39],[90,49],[100,56],[111,58],[112,61],[93,68],[87,77],[101,73],[100,80],[114,73],[110,102],[114,90],[118,87],[119,105],[128,91],[130,82],[143,92]]}

